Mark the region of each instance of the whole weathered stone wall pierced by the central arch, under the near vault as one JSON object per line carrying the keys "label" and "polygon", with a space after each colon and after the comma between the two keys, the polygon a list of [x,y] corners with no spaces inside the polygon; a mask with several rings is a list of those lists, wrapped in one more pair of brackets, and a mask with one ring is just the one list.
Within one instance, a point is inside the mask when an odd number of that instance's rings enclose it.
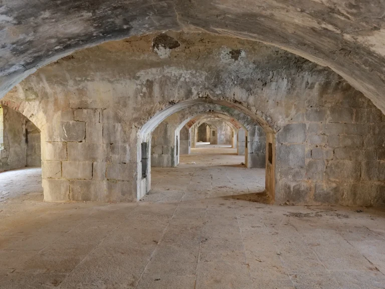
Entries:
{"label": "whole weathered stone wall pierced by the central arch, under the near vault", "polygon": [[[46,123],[46,200],[140,198],[138,187],[150,178],[141,174],[139,149],[150,145],[148,124],[212,104],[242,112],[265,131],[277,202],[383,204],[383,116],[339,75],[261,43],[167,35],[179,46],[165,54],[153,49],[158,34],[99,45],[41,68],[6,96],[28,99]],[[359,135],[353,128],[361,125],[369,130]]]}

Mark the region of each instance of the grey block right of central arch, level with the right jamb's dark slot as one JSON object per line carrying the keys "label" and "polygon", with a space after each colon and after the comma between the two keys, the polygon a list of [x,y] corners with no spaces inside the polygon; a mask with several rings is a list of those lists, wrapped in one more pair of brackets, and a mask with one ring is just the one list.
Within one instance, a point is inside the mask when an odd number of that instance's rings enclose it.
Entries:
{"label": "grey block right of central arch, level with the right jamb's dark slot", "polygon": [[305,166],[305,145],[279,145],[276,147],[276,166],[301,168]]}

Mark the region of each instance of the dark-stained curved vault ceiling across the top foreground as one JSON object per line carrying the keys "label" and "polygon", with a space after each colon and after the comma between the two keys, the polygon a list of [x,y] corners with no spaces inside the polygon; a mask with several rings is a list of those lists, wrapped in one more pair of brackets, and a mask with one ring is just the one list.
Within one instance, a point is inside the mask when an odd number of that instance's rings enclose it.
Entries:
{"label": "dark-stained curved vault ceiling across the top foreground", "polygon": [[329,66],[385,112],[385,2],[3,0],[0,97],[73,51],[154,31],[261,41]]}

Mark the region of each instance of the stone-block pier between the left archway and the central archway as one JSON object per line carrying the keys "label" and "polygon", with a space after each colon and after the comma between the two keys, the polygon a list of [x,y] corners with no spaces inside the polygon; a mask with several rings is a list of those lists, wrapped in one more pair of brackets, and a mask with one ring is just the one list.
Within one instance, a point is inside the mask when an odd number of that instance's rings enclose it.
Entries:
{"label": "stone-block pier between the left archway and the central archway", "polygon": [[46,201],[131,201],[137,192],[137,132],[110,110],[60,113],[42,131]]}

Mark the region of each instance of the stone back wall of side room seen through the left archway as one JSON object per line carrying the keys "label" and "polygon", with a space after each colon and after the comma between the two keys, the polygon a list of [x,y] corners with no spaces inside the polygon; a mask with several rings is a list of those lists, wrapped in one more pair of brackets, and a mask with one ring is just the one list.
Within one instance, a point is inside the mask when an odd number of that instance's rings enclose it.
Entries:
{"label": "stone back wall of side room seen through the left archway", "polygon": [[41,166],[40,130],[19,112],[0,109],[0,171]]}

